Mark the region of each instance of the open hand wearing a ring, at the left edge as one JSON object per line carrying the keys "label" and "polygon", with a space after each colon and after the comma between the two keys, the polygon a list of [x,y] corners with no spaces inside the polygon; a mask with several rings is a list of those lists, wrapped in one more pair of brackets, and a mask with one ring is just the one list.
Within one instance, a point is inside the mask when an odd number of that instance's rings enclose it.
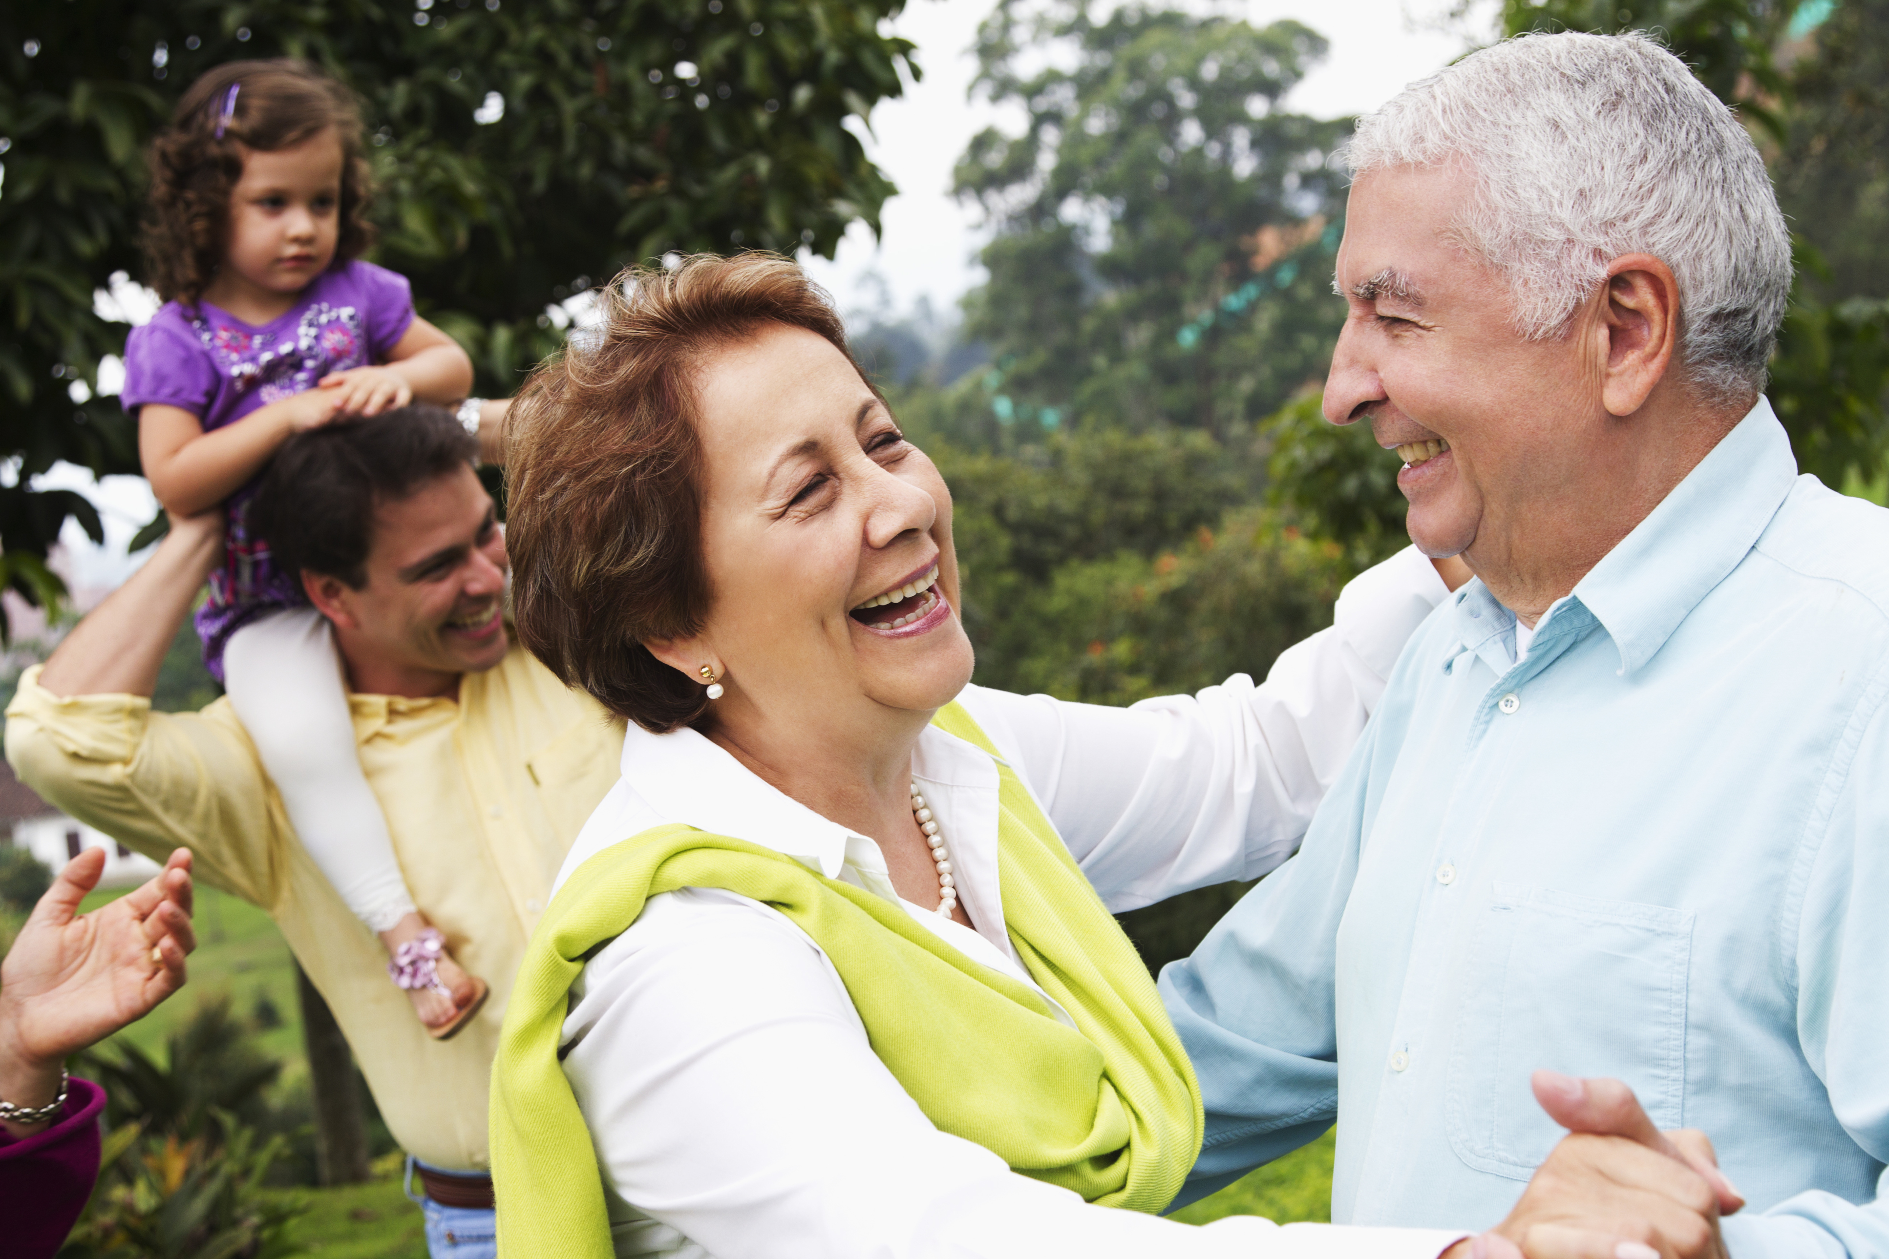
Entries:
{"label": "open hand wearing a ring, at the left edge", "polygon": [[104,866],[102,848],[66,863],[0,963],[0,1063],[57,1076],[68,1055],[183,987],[183,959],[196,948],[189,849],[136,891],[79,914]]}

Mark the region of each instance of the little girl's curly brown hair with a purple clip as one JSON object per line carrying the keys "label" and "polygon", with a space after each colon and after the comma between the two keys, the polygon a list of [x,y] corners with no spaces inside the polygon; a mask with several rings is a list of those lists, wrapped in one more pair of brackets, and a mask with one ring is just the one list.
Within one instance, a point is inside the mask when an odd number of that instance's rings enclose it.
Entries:
{"label": "little girl's curly brown hair with a purple clip", "polygon": [[[234,111],[217,136],[236,85],[242,87]],[[366,221],[372,170],[353,92],[289,57],[232,60],[191,83],[147,153],[151,196],[140,243],[159,296],[195,306],[215,277],[246,149],[291,149],[331,126],[342,142],[340,240],[332,262],[342,266],[374,243]]]}

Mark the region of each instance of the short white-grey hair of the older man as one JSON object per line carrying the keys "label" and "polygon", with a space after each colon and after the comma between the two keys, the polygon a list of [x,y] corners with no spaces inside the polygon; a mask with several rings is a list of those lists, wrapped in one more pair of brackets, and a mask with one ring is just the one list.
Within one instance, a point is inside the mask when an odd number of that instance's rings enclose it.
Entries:
{"label": "short white-grey hair of the older man", "polygon": [[1506,274],[1515,328],[1568,332],[1625,253],[1679,281],[1679,353],[1713,396],[1764,387],[1791,293],[1791,232],[1732,111],[1643,34],[1530,34],[1358,119],[1353,176],[1462,162],[1453,234]]}

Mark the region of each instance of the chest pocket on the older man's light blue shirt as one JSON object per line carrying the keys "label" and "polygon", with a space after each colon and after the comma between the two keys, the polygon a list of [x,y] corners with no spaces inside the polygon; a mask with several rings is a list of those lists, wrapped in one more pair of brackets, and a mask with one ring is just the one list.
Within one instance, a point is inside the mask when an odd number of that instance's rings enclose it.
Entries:
{"label": "chest pocket on the older man's light blue shirt", "polygon": [[1681,1127],[1693,915],[1496,883],[1470,940],[1449,1063],[1449,1142],[1466,1165],[1528,1180],[1564,1136],[1538,1068],[1613,1076],[1653,1123]]}

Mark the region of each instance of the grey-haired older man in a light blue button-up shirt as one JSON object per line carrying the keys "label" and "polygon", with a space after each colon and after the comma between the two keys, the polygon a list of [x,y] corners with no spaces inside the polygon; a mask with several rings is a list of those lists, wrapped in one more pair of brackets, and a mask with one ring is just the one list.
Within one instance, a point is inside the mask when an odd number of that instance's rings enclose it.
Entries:
{"label": "grey-haired older man in a light blue button-up shirt", "polygon": [[1560,1134],[1530,1082],[1613,1076],[1717,1142],[1738,1259],[1889,1255],[1889,512],[1762,396],[1764,164],[1670,53],[1583,34],[1411,85],[1349,160],[1326,417],[1477,579],[1162,976],[1192,1195],[1336,1117],[1334,1219],[1492,1219]]}

